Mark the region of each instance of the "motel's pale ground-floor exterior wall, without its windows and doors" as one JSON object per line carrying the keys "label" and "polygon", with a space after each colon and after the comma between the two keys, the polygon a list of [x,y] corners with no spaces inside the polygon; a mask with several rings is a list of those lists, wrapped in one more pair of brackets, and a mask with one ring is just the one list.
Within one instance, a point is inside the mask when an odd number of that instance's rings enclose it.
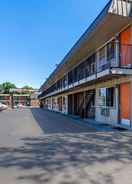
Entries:
{"label": "motel's pale ground-floor exterior wall, without its windows and doors", "polygon": [[[99,82],[95,85],[91,86],[86,86],[80,87],[80,92],[86,92],[90,91],[91,89],[96,90],[96,96],[95,96],[95,120],[97,122],[101,123],[108,123],[112,125],[117,125],[117,126],[125,126],[125,124],[121,124],[120,122],[120,85],[123,83],[130,83],[130,94],[132,94],[132,77],[120,77],[117,79],[111,79],[105,82]],[[100,96],[99,96],[99,89],[100,88],[111,88],[114,87],[115,89],[115,95],[114,95],[114,106],[113,107],[106,107],[106,106],[101,106],[100,105]],[[45,100],[45,107],[47,107],[49,110],[55,111],[55,112],[60,112],[63,114],[68,114],[68,109],[71,106],[69,104],[68,107],[68,95],[75,95],[79,91],[76,90],[76,88],[71,91],[70,93],[64,93],[58,96],[53,96],[49,97]],[[129,100],[131,101],[130,103],[130,121],[131,121],[131,127],[132,127],[132,95],[130,95]],[[62,111],[59,110],[59,105],[58,105],[58,98],[62,97]],[[75,105],[75,102],[73,102]],[[102,110],[106,110],[106,114],[102,113]],[[130,126],[128,126],[130,128]]]}

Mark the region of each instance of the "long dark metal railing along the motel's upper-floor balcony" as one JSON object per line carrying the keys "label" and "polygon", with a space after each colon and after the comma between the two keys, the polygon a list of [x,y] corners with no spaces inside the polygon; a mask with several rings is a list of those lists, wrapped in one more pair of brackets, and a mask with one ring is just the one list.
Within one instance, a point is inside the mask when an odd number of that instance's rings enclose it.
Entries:
{"label": "long dark metal railing along the motel's upper-floor balcony", "polygon": [[[68,73],[68,77],[65,76],[65,79],[57,81],[47,91],[43,92],[40,97],[61,90],[62,88],[86,79],[92,75],[97,75],[107,69],[132,69],[132,45],[111,42],[105,46],[104,50],[104,55],[101,52],[101,58],[99,57],[99,50],[98,53],[96,53],[98,57],[95,57],[94,54],[88,58],[86,61],[70,71]],[[96,61],[95,58],[97,58]]]}

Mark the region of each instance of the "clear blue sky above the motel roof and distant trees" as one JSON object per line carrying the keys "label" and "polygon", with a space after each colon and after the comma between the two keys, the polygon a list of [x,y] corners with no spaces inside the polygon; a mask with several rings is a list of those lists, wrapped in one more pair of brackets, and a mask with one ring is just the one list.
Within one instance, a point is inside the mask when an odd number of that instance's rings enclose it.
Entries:
{"label": "clear blue sky above the motel roof and distant trees", "polygon": [[39,88],[108,0],[0,0],[0,83]]}

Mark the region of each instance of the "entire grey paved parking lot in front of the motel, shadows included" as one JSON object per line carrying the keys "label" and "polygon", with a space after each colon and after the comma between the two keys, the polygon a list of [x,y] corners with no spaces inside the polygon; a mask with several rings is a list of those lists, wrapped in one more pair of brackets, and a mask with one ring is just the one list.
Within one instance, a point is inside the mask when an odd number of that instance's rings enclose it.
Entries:
{"label": "entire grey paved parking lot in front of the motel, shadows included", "polygon": [[132,133],[41,109],[0,113],[1,184],[131,184]]}

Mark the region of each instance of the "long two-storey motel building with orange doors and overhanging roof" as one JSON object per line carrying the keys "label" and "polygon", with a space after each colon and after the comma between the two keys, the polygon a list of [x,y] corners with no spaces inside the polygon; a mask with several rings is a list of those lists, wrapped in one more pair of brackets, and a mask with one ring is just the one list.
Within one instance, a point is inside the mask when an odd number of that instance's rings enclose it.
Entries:
{"label": "long two-storey motel building with orange doors and overhanging roof", "polygon": [[109,1],[40,91],[48,110],[132,128],[132,1]]}

